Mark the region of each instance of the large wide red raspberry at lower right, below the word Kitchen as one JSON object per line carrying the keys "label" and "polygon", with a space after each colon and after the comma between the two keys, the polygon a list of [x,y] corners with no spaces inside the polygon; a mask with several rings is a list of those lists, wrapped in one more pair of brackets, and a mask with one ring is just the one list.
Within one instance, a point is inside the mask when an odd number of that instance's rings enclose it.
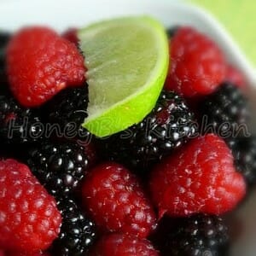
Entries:
{"label": "large wide red raspberry at lower right, below the word Kitchen", "polygon": [[160,216],[187,216],[232,210],[245,195],[246,184],[236,172],[230,148],[209,134],[155,166],[150,189]]}

